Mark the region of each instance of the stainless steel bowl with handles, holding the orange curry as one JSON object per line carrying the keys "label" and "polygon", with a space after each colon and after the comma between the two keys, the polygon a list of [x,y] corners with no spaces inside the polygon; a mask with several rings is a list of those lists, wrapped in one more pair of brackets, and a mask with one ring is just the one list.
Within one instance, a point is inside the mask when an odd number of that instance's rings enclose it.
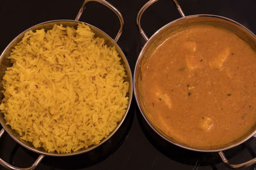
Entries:
{"label": "stainless steel bowl with handles, holding the orange curry", "polygon": [[156,3],[158,0],[150,0],[148,3],[146,3],[141,10],[138,13],[137,16],[137,24],[139,31],[141,33],[141,36],[145,39],[146,43],[143,46],[140,55],[138,57],[138,60],[136,62],[136,66],[134,69],[134,95],[136,97],[136,101],[138,104],[138,107],[140,108],[140,112],[145,118],[147,124],[159,135],[161,138],[165,139],[166,141],[180,146],[182,148],[186,148],[188,150],[193,150],[197,152],[218,152],[221,159],[227,164],[227,166],[236,168],[236,167],[244,167],[244,166],[249,166],[252,163],[256,163],[256,159],[250,160],[249,162],[246,162],[244,164],[238,164],[238,165],[231,165],[228,163],[227,159],[225,158],[224,153],[222,152],[223,150],[227,150],[229,148],[233,148],[234,146],[240,145],[247,139],[251,138],[253,134],[256,132],[256,124],[250,131],[248,131],[244,136],[241,136],[241,138],[237,139],[236,141],[233,141],[232,143],[228,143],[227,145],[223,146],[218,146],[215,148],[208,148],[208,149],[198,149],[198,148],[192,148],[189,145],[186,145],[184,143],[180,143],[179,141],[175,141],[175,139],[171,138],[170,136],[167,136],[164,134],[161,129],[158,129],[147,117],[147,105],[144,104],[143,102],[143,96],[141,95],[141,73],[143,73],[143,70],[145,70],[145,64],[147,64],[148,57],[154,52],[154,50],[159,46],[163,41],[170,35],[171,32],[179,29],[180,27],[185,27],[193,24],[208,24],[208,25],[214,25],[216,27],[222,27],[225,29],[228,29],[237,36],[239,36],[241,39],[246,41],[255,51],[256,51],[256,36],[246,27],[243,25],[235,22],[234,20],[230,20],[229,18],[221,17],[218,15],[190,15],[190,16],[185,16],[182,9],[179,6],[179,3],[176,0],[173,0],[174,3],[176,4],[177,10],[179,11],[181,18],[174,20],[163,27],[156,31],[150,38],[147,37],[143,29],[141,28],[140,20],[141,20],[141,15],[144,13],[147,8]]}

